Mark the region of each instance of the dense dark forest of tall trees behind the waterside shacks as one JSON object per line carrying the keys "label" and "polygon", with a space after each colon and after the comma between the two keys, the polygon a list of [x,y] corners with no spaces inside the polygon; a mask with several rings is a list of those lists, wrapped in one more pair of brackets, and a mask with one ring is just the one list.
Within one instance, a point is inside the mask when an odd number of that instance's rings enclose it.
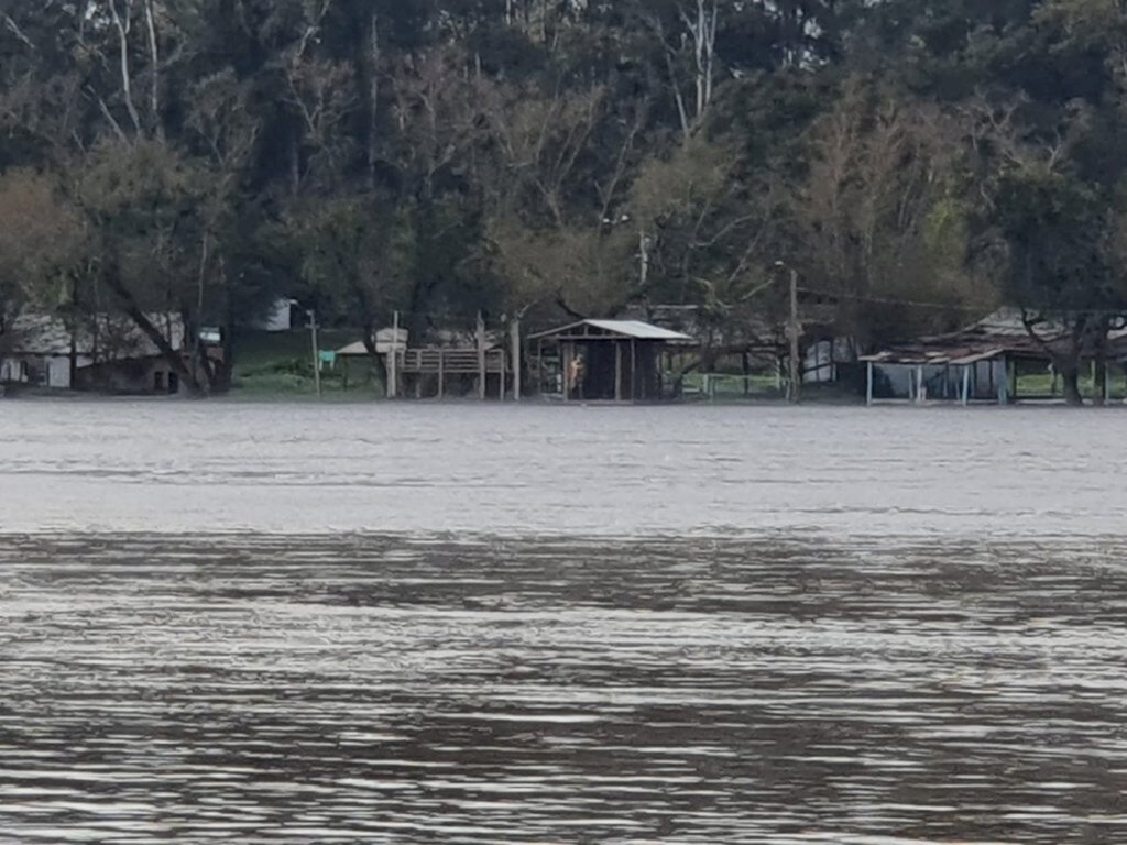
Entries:
{"label": "dense dark forest of tall trees behind the waterside shacks", "polygon": [[662,303],[731,338],[778,320],[781,261],[863,345],[1063,321],[1067,382],[1127,313],[1120,0],[0,9],[7,318]]}

